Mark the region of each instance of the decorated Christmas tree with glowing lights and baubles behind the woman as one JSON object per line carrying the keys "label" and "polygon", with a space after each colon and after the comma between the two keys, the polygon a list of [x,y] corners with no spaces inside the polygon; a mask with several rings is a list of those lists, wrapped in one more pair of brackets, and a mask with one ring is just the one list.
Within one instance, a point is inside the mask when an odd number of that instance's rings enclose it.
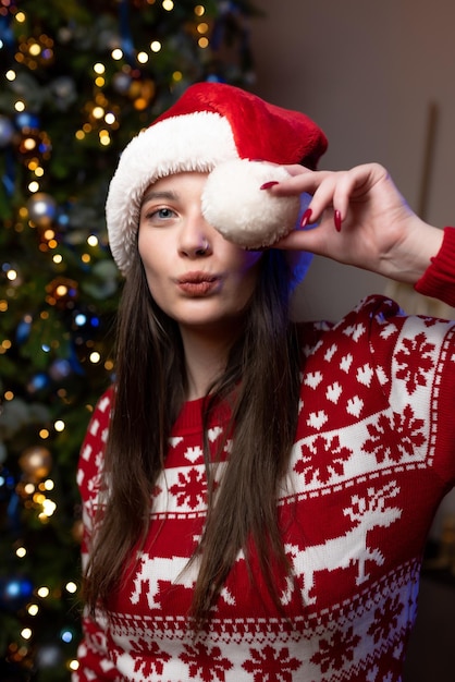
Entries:
{"label": "decorated Christmas tree with glowing lights and baubles behind the woman", "polygon": [[0,679],[69,680],[75,472],[112,380],[119,154],[193,82],[251,85],[247,1],[0,0]]}

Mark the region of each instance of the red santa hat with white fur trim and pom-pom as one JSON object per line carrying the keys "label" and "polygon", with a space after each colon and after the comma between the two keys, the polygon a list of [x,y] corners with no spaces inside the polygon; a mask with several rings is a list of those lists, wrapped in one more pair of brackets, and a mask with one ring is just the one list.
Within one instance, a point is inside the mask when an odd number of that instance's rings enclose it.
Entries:
{"label": "red santa hat with white fur trim and pom-pom", "polygon": [[298,199],[273,197],[260,185],[283,178],[282,165],[315,168],[325,148],[323,132],[300,112],[232,85],[192,85],[132,139],[112,178],[106,210],[120,270],[127,273],[142,199],[159,178],[210,173],[202,196],[205,217],[226,239],[259,247],[288,232],[298,216]]}

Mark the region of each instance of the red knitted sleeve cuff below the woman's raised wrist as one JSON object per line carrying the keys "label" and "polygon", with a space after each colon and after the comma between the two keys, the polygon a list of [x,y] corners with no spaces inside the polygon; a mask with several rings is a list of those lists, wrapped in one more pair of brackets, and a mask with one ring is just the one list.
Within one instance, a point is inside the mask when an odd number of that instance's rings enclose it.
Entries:
{"label": "red knitted sleeve cuff below the woman's raised wrist", "polygon": [[415,289],[455,307],[455,228],[444,229],[439,253],[416,283]]}

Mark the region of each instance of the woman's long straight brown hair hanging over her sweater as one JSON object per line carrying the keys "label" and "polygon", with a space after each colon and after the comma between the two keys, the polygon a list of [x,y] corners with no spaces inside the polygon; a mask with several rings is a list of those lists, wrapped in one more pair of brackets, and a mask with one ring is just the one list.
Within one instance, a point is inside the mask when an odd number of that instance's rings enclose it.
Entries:
{"label": "woman's long straight brown hair hanging over her sweater", "polygon": [[[190,614],[198,625],[208,619],[239,549],[248,561],[249,540],[276,605],[272,564],[278,561],[287,571],[276,489],[295,436],[300,357],[296,329],[288,317],[286,270],[282,252],[263,254],[243,333],[231,350],[225,373],[205,401],[207,423],[220,401],[235,395],[229,464],[221,486],[209,494],[198,550]],[[85,576],[84,595],[91,609],[97,602],[106,605],[112,588],[121,583],[133,548],[147,535],[151,491],[185,399],[179,327],[151,297],[138,255],[124,284],[116,355],[114,409],[104,458],[109,495]],[[207,439],[204,449],[210,490]]]}

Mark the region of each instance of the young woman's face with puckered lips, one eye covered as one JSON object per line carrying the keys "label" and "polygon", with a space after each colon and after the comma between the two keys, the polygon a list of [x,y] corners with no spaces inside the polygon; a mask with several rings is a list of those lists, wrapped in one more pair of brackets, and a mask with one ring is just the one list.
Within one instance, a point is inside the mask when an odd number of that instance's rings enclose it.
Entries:
{"label": "young woman's face with puckered lips, one eye covered", "polygon": [[202,217],[206,173],[150,185],[143,199],[138,248],[157,304],[183,327],[239,319],[256,287],[260,252],[228,242]]}

